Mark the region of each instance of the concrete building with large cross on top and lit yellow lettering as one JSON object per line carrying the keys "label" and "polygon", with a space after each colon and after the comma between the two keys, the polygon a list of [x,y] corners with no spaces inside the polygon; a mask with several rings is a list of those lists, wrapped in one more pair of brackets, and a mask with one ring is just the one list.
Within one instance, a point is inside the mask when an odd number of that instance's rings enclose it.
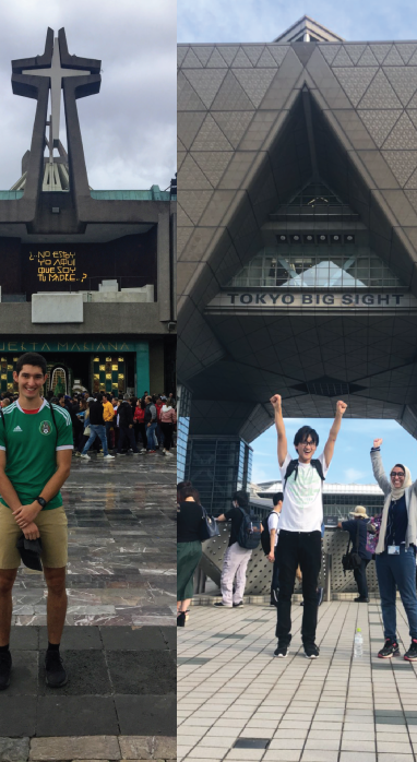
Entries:
{"label": "concrete building with large cross on top and lit yellow lettering", "polygon": [[0,391],[31,349],[67,391],[175,389],[176,195],[90,187],[76,100],[98,94],[99,72],[69,53],[64,29],[48,29],[41,56],[12,61],[13,92],[36,109],[21,177],[0,192]]}

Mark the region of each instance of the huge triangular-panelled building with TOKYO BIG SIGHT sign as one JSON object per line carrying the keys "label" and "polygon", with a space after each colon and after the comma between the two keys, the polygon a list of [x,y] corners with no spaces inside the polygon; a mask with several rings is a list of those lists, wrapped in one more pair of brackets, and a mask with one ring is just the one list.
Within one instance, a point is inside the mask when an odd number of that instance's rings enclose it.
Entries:
{"label": "huge triangular-panelled building with TOKYO BIG SIGHT sign", "polygon": [[179,469],[218,511],[275,392],[417,437],[417,41],[305,16],[178,63]]}

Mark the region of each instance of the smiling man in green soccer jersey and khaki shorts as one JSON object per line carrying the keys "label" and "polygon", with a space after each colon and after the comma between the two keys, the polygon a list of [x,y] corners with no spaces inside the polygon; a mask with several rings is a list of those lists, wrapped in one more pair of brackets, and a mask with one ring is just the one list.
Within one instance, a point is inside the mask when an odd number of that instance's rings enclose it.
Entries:
{"label": "smiling man in green soccer jersey and khaki shorts", "polygon": [[40,396],[46,361],[37,353],[19,358],[13,379],[19,398],[0,417],[0,690],[10,683],[9,651],[12,588],[21,557],[16,540],[40,537],[48,587],[48,651],[46,681],[52,688],[67,682],[59,654],[67,612],[67,516],[60,488],[70,475],[73,449],[71,418],[59,405]]}

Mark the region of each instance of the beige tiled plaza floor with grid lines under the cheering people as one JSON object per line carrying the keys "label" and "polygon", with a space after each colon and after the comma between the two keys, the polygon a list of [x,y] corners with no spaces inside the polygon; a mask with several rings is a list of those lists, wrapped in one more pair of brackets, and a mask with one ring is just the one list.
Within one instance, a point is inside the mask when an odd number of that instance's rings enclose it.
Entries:
{"label": "beige tiled plaza floor with grid lines under the cheering people", "polygon": [[[278,659],[271,607],[191,609],[178,630],[179,760],[417,760],[417,664],[378,659],[379,602],[324,603],[317,660],[303,656],[301,615],[295,605],[290,653]],[[365,647],[354,659],[356,627]],[[400,602],[397,632],[403,654],[409,635]]]}

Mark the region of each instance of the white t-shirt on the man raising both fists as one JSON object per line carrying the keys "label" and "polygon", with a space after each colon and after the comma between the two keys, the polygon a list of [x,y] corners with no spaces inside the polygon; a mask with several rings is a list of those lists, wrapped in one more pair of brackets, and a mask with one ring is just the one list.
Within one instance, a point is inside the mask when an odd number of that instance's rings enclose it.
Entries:
{"label": "white t-shirt on the man raising both fists", "polygon": [[[324,461],[324,453],[318,459],[326,475],[329,466]],[[291,461],[287,454],[279,467],[284,487],[283,510],[279,517],[279,529],[287,532],[315,532],[321,531],[323,522],[323,483],[315,468],[310,463],[299,463],[298,474],[293,472],[285,484],[285,473]]]}

